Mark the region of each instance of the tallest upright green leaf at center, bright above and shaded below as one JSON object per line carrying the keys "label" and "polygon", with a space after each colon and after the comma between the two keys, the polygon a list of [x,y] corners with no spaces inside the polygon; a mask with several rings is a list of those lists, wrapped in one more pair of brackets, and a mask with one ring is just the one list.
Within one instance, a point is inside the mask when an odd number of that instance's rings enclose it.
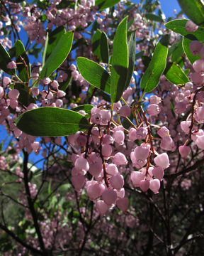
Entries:
{"label": "tallest upright green leaf at center, bright above and shaded below", "polygon": [[118,102],[123,95],[128,74],[128,16],[123,18],[115,31],[111,66],[111,100]]}

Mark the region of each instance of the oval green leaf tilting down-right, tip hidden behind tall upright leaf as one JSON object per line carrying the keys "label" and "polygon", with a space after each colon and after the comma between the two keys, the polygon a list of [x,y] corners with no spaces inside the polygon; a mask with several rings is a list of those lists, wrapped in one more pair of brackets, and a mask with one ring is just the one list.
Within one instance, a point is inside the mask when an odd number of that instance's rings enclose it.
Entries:
{"label": "oval green leaf tilting down-right, tip hidden behind tall upright leaf", "polygon": [[77,67],[82,77],[91,85],[104,92],[111,93],[111,75],[101,65],[87,58],[78,57]]}

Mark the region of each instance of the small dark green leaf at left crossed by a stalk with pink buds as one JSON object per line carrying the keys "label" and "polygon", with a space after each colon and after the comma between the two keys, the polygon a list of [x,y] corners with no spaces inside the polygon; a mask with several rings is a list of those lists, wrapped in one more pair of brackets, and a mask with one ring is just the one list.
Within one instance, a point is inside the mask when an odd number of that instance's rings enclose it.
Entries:
{"label": "small dark green leaf at left crossed by a stalk with pink buds", "polygon": [[20,40],[16,41],[15,48],[16,48],[16,63],[23,63],[23,60],[25,60],[28,68],[28,73],[27,73],[26,65],[17,64],[18,77],[21,78],[23,82],[28,82],[28,76],[30,77],[30,62],[28,60],[26,50],[23,46],[23,43]]}

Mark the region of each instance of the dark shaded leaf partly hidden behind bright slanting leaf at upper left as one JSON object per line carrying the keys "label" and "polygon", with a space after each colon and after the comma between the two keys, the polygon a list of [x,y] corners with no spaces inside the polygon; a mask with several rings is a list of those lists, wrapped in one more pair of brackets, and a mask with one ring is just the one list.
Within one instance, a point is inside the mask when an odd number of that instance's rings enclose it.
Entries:
{"label": "dark shaded leaf partly hidden behind bright slanting leaf at upper left", "polygon": [[[50,56],[52,51],[57,46],[57,43],[60,41],[60,38],[65,33],[66,33],[66,30],[65,30],[64,26],[57,27],[57,28],[55,28],[54,31],[48,33],[48,36],[47,36],[48,38],[46,38],[47,46],[46,46],[46,41],[45,41],[45,50],[43,53],[43,58],[45,58],[45,60],[47,60],[47,58]],[[43,62],[43,58],[42,58],[42,67],[45,64],[45,60]]]}

